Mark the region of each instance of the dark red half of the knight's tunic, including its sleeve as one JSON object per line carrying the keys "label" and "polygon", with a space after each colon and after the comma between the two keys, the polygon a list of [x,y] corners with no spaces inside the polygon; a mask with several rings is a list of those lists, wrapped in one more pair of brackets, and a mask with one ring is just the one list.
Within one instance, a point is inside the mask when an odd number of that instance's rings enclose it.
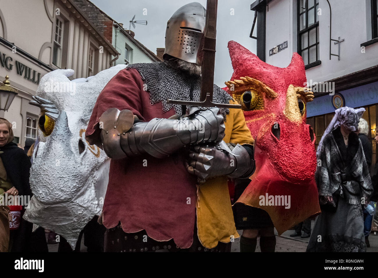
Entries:
{"label": "dark red half of the knight's tunic, including its sleeve", "polygon": [[[99,117],[107,109],[129,109],[142,121],[169,118],[161,102],[151,105],[149,92],[135,69],[119,71],[100,93],[88,123],[86,138],[101,146]],[[181,154],[166,158],[150,155],[111,160],[109,183],[103,206],[103,224],[118,225],[127,233],[146,230],[158,241],[174,239],[180,248],[189,248],[195,224],[196,181],[184,166]]]}

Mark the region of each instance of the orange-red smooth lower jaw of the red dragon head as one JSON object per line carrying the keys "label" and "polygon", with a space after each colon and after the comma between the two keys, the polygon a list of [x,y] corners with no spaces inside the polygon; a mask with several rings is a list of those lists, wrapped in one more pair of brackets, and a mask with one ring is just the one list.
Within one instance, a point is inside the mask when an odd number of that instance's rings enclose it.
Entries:
{"label": "orange-red smooth lower jaw of the red dragon head", "polygon": [[320,213],[314,179],[301,184],[292,183],[272,166],[270,158],[258,146],[254,148],[254,158],[256,170],[250,177],[252,181],[237,203],[265,210],[278,235]]}

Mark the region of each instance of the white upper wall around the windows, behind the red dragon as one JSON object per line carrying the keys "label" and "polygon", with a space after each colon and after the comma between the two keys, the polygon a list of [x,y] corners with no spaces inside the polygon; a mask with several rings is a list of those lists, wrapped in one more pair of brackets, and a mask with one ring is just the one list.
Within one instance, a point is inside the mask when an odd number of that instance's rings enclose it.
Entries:
{"label": "white upper wall around the windows, behind the red dragon", "polygon": [[[319,0],[319,57],[321,65],[306,70],[307,79],[316,82],[331,80],[378,64],[378,43],[365,48],[361,43],[371,39],[370,1],[332,0],[332,39],[345,39],[338,57],[329,59],[330,9],[326,0]],[[266,62],[277,67],[290,63],[297,51],[297,0],[274,0],[266,12]],[[288,40],[288,48],[269,57],[269,50]],[[338,54],[338,45],[332,42],[332,53]],[[337,88],[336,88],[337,90]]]}

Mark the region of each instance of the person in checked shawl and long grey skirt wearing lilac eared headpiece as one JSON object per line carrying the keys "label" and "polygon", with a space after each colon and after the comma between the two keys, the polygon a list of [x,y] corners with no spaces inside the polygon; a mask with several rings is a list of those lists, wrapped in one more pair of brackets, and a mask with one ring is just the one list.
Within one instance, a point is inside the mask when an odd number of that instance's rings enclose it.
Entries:
{"label": "person in checked shawl and long grey skirt wearing lilac eared headpiece", "polygon": [[315,173],[322,213],[307,252],[365,252],[362,206],[373,192],[361,141],[355,132],[364,108],[341,107],[317,149]]}

